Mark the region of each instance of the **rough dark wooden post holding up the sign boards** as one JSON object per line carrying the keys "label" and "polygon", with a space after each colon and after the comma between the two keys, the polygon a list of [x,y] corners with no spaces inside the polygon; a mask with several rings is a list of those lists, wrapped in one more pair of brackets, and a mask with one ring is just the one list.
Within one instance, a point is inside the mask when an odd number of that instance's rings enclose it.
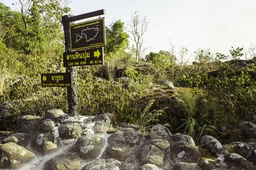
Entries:
{"label": "rough dark wooden post holding up the sign boards", "polygon": [[[67,15],[62,17],[61,23],[63,24],[64,38],[65,38],[65,51],[71,51],[70,45],[70,23],[67,22]],[[66,67],[66,72],[71,73],[71,88],[67,88],[67,102],[69,116],[78,115],[78,97],[77,97],[77,73],[76,67]]]}

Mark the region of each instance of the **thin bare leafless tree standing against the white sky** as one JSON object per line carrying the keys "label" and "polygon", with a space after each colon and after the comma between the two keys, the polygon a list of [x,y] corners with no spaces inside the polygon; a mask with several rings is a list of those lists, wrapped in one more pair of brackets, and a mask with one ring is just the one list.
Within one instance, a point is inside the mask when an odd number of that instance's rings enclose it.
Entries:
{"label": "thin bare leafless tree standing against the white sky", "polygon": [[147,30],[148,20],[146,17],[143,17],[140,20],[139,14],[134,12],[134,15],[131,14],[131,23],[129,23],[130,30],[128,32],[131,33],[131,40],[135,42],[135,55],[136,59],[140,60],[143,56],[144,51],[148,48],[143,47],[143,35]]}

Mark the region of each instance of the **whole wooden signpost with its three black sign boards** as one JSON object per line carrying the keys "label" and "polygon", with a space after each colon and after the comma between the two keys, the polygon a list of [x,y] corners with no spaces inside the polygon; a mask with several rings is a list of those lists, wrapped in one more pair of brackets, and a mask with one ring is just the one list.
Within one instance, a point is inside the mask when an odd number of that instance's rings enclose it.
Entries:
{"label": "whole wooden signpost with its three black sign boards", "polygon": [[76,67],[73,66],[104,64],[102,46],[106,45],[104,18],[71,26],[70,22],[103,14],[105,14],[105,9],[73,17],[63,16],[61,20],[65,39],[63,64],[66,67],[66,73],[41,74],[43,87],[67,87],[68,114],[70,116],[78,114],[77,73]]}

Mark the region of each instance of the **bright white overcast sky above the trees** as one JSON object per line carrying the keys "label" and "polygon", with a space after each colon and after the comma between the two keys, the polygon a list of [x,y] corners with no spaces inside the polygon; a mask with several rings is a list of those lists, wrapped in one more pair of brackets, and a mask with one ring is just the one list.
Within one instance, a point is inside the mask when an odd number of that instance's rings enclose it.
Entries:
{"label": "bright white overcast sky above the trees", "polygon": [[[17,0],[2,1],[12,6]],[[113,19],[128,23],[134,11],[147,16],[146,53],[169,51],[169,39],[176,51],[187,46],[188,57],[197,48],[229,54],[232,46],[256,42],[256,0],[72,0],[70,8],[74,15],[104,8],[106,25]]]}

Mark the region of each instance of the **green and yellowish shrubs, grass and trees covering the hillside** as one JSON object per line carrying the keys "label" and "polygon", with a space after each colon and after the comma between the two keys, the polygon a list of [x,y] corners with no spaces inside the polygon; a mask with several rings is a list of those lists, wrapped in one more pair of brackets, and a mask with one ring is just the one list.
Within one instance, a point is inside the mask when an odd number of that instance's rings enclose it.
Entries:
{"label": "green and yellowish shrubs, grass and trees covering the hillside", "polygon": [[[67,89],[43,88],[40,78],[65,72],[61,17],[70,8],[58,0],[32,2],[25,4],[27,13],[0,3],[0,103],[8,110],[0,130],[14,130],[23,115],[57,108],[67,113]],[[143,58],[143,41],[131,46],[132,30],[130,37],[124,27],[121,20],[106,26],[104,65],[78,67],[79,114],[113,113],[116,122],[140,125],[141,131],[161,123],[195,140],[218,138],[218,127],[256,114],[256,59],[240,60],[243,48],[232,47],[229,56],[198,48],[193,65],[185,62],[186,48]]]}

